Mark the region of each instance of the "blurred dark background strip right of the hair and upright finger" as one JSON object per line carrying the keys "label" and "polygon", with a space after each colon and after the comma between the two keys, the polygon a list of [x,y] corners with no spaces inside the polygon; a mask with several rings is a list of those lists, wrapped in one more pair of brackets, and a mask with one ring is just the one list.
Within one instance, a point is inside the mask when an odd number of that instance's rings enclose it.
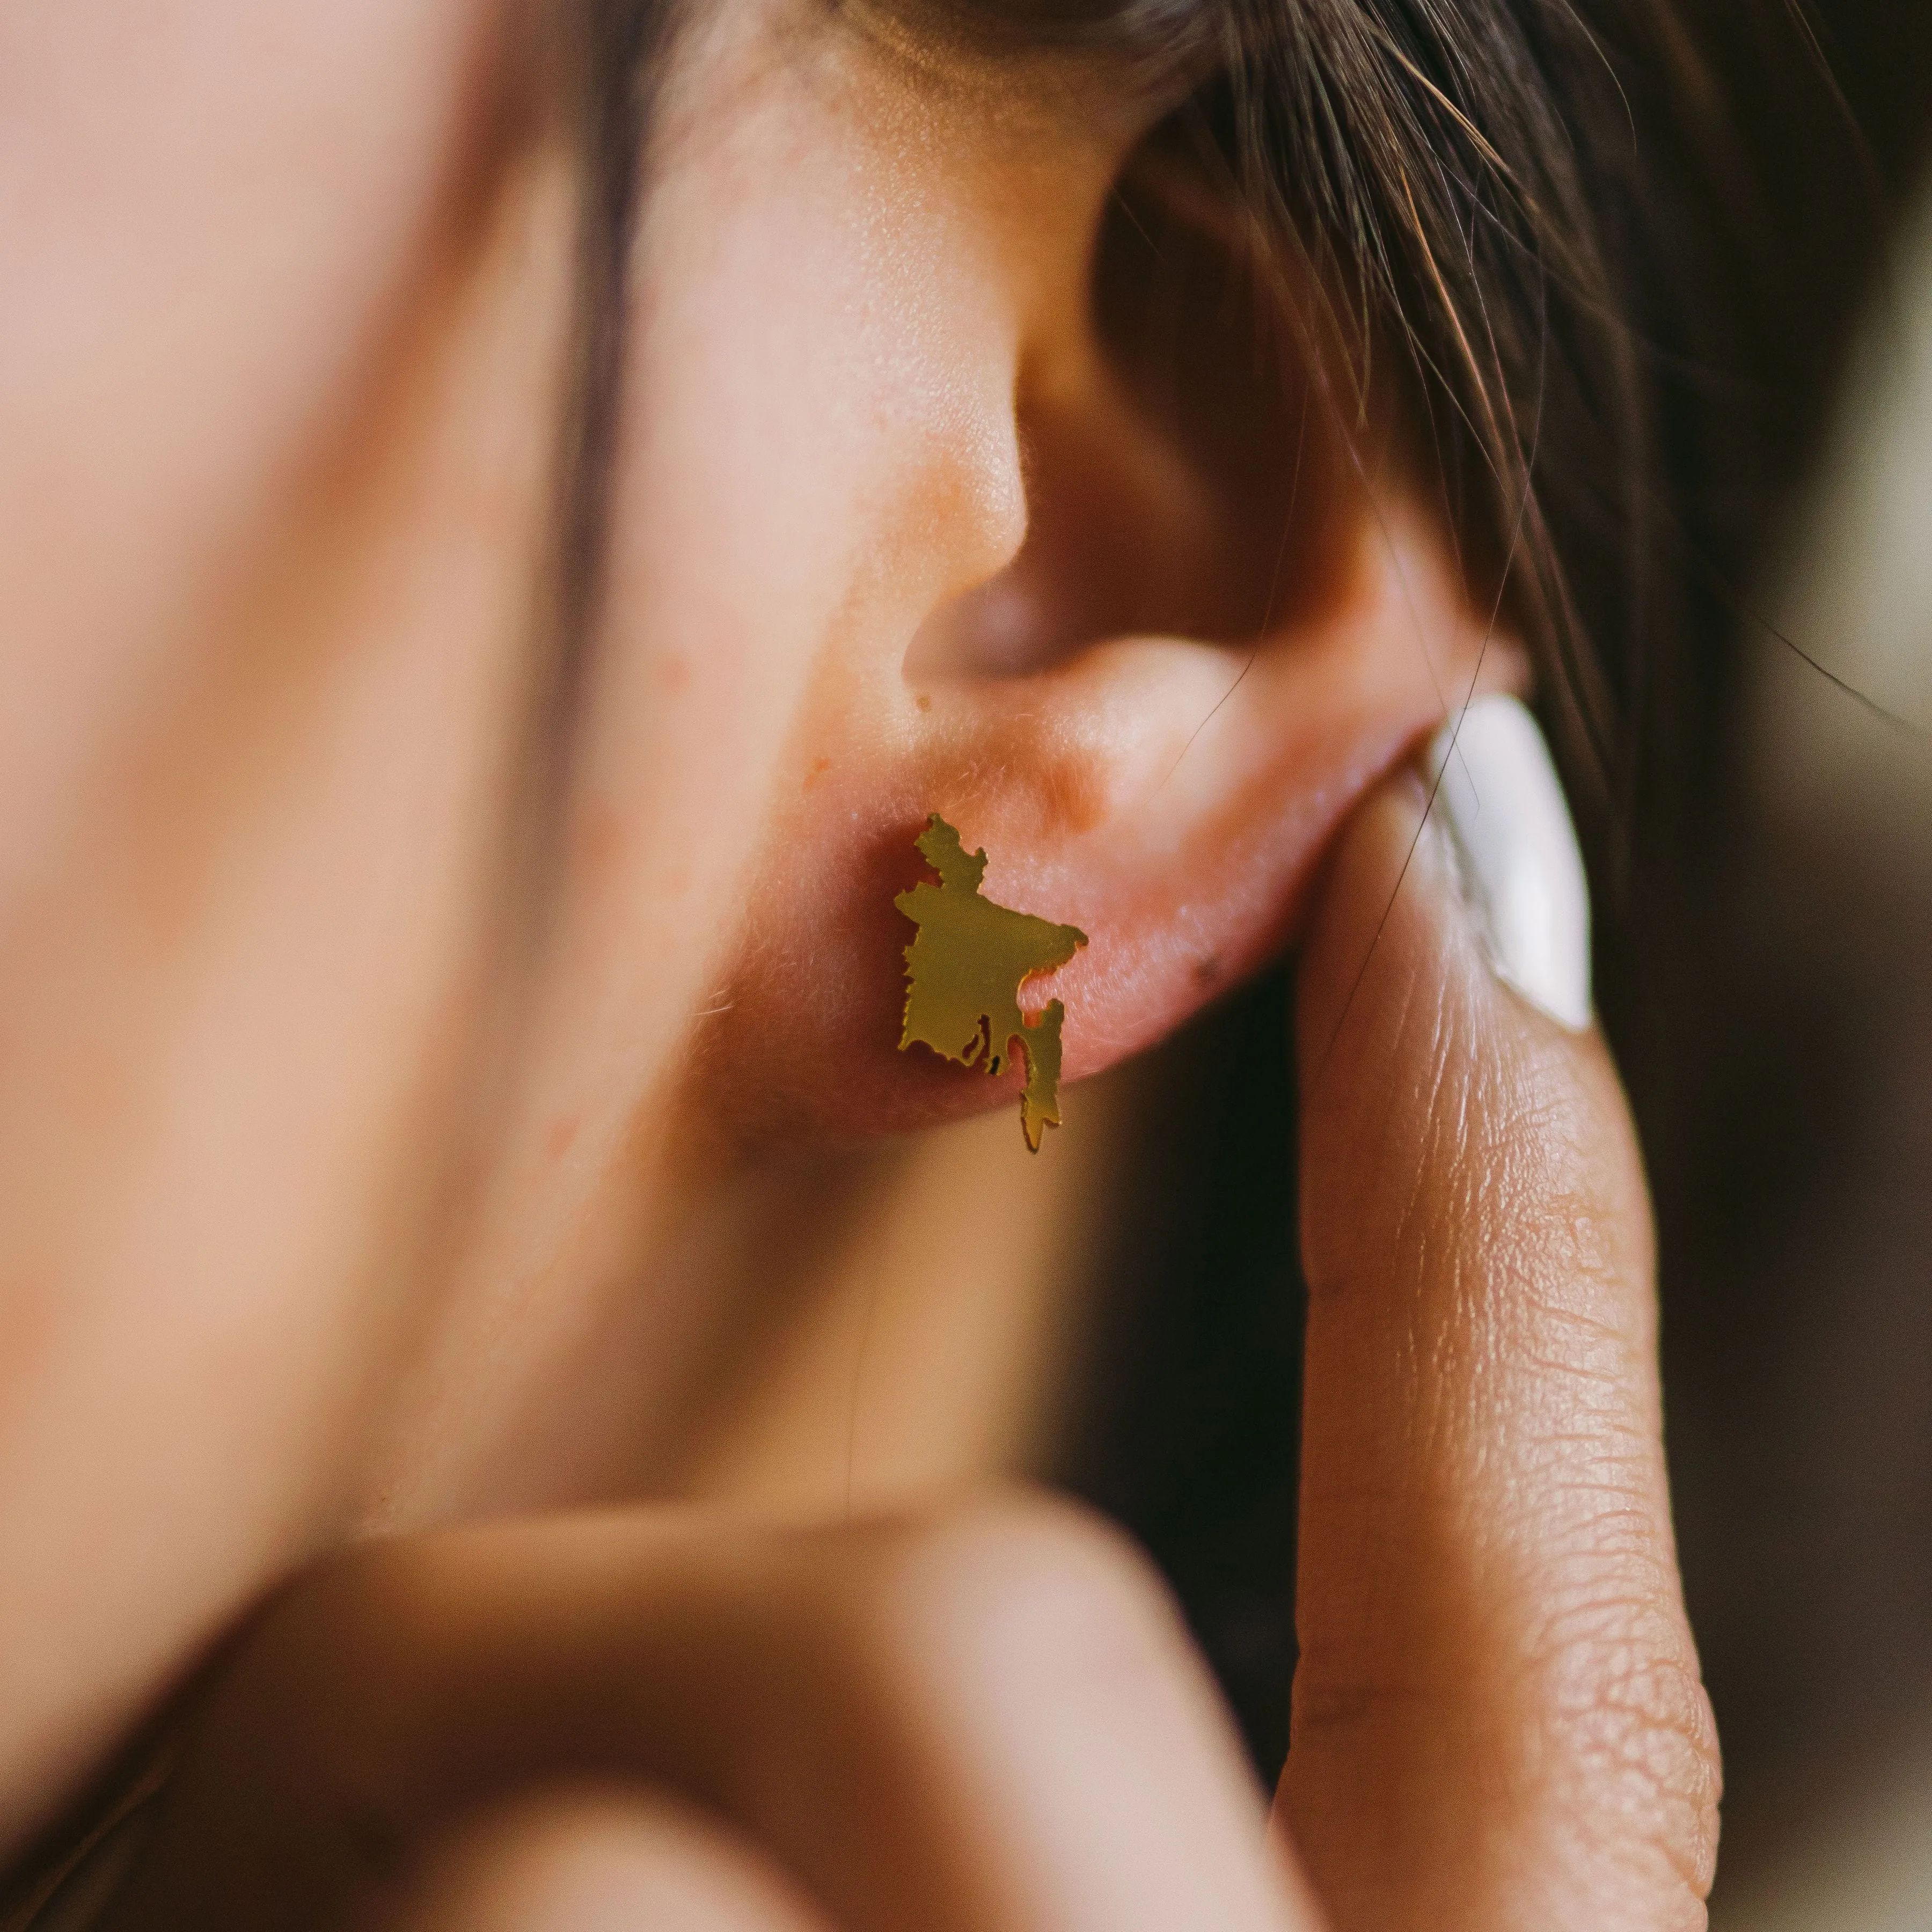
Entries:
{"label": "blurred dark background strip right of the hair and upright finger", "polygon": [[1712,891],[1633,1063],[1719,1932],[1932,1926],[1932,10],[1818,19],[1866,151],[1760,137],[1787,419]]}

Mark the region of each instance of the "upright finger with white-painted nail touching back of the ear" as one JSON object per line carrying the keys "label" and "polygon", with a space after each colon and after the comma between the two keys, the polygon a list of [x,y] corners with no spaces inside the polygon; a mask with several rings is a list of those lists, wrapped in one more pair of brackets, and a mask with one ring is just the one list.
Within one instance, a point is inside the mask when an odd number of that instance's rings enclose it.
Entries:
{"label": "upright finger with white-painted nail touching back of the ear", "polygon": [[1341,1932],[1700,1926],[1718,1762],[1648,1206],[1582,1024],[1575,840],[1515,699],[1466,713],[1428,827],[1424,806],[1414,775],[1364,806],[1300,976],[1302,1662],[1279,1816]]}

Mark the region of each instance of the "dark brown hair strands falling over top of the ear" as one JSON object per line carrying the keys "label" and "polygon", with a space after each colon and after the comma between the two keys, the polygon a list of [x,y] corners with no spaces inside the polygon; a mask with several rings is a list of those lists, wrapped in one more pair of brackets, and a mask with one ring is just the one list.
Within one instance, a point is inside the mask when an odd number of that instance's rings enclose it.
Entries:
{"label": "dark brown hair strands falling over top of the ear", "polygon": [[[1337,425],[1403,425],[1472,597],[1536,659],[1586,837],[1621,844],[1646,744],[1696,682],[1692,568],[1731,553],[1745,495],[1710,390],[1741,361],[1725,290],[1756,201],[1689,0],[898,12],[1186,77],[1169,135],[1277,265]],[[1764,27],[1808,58],[1791,21]]]}

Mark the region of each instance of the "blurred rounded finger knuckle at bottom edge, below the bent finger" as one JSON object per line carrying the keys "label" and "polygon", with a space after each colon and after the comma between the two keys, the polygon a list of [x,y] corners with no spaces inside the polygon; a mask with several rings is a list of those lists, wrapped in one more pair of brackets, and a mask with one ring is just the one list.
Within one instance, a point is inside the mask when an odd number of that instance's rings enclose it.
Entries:
{"label": "blurred rounded finger knuckle at bottom edge, below the bent finger", "polygon": [[661,1795],[551,1789],[440,1833],[359,1932],[827,1932],[769,1861]]}

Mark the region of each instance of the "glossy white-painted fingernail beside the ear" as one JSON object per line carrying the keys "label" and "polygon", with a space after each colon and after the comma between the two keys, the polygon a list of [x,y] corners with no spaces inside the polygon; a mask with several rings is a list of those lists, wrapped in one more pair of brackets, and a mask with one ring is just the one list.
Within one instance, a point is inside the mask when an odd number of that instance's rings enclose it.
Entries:
{"label": "glossy white-painted fingernail beside the ear", "polygon": [[1590,887],[1536,719],[1515,697],[1478,697],[1430,740],[1424,763],[1495,976],[1580,1032]]}

